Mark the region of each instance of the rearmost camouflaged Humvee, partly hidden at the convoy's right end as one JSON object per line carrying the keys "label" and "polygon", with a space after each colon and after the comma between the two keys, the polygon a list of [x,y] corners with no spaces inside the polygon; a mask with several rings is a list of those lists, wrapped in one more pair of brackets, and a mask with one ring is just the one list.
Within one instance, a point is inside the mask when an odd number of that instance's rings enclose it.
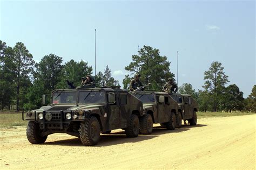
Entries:
{"label": "rearmost camouflaged Humvee, partly hidden at the convoy's right end", "polygon": [[179,115],[183,120],[187,120],[190,125],[197,124],[198,103],[191,95],[170,94],[177,101]]}

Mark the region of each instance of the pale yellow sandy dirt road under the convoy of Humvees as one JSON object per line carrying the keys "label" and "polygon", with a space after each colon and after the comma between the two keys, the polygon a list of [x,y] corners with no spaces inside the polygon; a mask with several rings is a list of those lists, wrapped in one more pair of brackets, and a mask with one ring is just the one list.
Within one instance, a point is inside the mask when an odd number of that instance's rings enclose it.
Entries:
{"label": "pale yellow sandy dirt road under the convoy of Humvees", "polygon": [[202,118],[197,126],[126,138],[103,134],[97,146],[83,146],[68,134],[51,134],[41,145],[26,139],[25,127],[0,129],[0,169],[255,169],[256,115]]}

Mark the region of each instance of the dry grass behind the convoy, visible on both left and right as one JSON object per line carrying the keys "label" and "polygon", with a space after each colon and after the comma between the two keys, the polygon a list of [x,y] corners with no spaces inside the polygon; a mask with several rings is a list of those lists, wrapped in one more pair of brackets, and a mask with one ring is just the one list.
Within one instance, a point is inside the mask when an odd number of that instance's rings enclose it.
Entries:
{"label": "dry grass behind the convoy, visible on both left and right", "polygon": [[[252,112],[197,112],[198,118],[203,117],[227,117],[227,116],[241,116],[252,115]],[[25,116],[25,115],[24,115]],[[22,121],[22,112],[0,112],[0,128],[12,126],[24,126],[28,121]]]}

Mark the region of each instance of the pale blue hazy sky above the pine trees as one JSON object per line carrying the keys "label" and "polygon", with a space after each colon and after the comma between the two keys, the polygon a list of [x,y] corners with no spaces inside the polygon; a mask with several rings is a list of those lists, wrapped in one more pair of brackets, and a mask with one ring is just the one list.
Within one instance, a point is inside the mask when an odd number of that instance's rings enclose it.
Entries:
{"label": "pale blue hazy sky above the pine trees", "polygon": [[176,79],[179,52],[179,86],[203,89],[213,61],[244,97],[256,84],[255,1],[0,0],[0,11],[0,40],[23,42],[36,62],[53,53],[88,62],[94,74],[96,29],[96,71],[108,65],[121,85],[144,45],[167,56]]}

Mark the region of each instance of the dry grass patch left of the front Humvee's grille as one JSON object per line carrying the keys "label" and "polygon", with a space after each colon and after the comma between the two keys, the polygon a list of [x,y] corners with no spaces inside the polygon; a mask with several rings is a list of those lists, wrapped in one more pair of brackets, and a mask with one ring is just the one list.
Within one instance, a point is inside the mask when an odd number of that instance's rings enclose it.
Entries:
{"label": "dry grass patch left of the front Humvee's grille", "polygon": [[22,121],[22,112],[0,112],[0,127],[24,126],[27,123]]}

